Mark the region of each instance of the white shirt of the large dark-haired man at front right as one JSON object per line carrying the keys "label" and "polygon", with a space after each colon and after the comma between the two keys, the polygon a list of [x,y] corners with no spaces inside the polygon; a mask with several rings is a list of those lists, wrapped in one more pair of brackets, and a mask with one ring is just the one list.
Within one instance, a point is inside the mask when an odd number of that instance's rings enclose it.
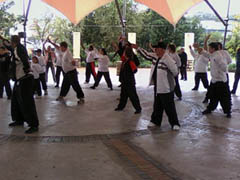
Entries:
{"label": "white shirt of the large dark-haired man at front right", "polygon": [[210,58],[211,82],[227,82],[227,63],[219,51],[209,54],[203,51],[202,55]]}

